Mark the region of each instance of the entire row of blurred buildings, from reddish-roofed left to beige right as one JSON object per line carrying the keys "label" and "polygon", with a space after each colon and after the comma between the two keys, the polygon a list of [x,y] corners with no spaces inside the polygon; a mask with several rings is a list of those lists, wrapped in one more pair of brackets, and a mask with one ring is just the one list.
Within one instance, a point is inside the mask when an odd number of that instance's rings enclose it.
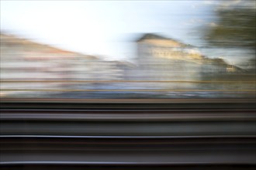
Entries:
{"label": "entire row of blurred buildings, from reddish-roofed left to beige right", "polygon": [[[96,81],[102,80],[200,81],[204,74],[242,71],[237,66],[225,63],[223,59],[209,59],[193,46],[164,36],[144,34],[136,43],[134,63],[123,63],[1,34],[1,93],[18,93],[22,91],[20,89],[74,88],[68,83],[71,80],[93,80],[95,82],[83,84],[84,88],[92,89],[98,88]],[[115,84],[111,86],[114,88]],[[121,88],[193,86],[192,83],[133,83]]]}

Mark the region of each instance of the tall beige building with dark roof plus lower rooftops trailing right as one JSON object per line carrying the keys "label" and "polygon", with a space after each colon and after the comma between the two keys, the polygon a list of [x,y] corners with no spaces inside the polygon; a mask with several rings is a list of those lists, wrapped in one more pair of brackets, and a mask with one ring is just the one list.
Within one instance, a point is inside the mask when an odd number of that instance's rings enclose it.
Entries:
{"label": "tall beige building with dark roof plus lower rooftops trailing right", "polygon": [[[137,39],[137,67],[129,70],[129,80],[200,81],[202,73],[231,73],[239,68],[223,59],[202,56],[194,46],[156,34]],[[161,86],[164,85],[164,86]],[[195,83],[154,83],[150,87],[193,88]],[[146,84],[145,84],[146,86]]]}

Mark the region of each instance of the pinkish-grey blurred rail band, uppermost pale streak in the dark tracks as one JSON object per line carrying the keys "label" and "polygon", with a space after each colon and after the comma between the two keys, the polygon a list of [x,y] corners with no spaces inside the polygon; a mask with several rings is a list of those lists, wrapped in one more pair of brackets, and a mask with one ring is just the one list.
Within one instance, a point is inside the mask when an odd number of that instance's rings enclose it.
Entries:
{"label": "pinkish-grey blurred rail band, uppermost pale streak in the dark tracks", "polygon": [[255,121],[256,108],[245,109],[1,109],[0,120],[43,121]]}

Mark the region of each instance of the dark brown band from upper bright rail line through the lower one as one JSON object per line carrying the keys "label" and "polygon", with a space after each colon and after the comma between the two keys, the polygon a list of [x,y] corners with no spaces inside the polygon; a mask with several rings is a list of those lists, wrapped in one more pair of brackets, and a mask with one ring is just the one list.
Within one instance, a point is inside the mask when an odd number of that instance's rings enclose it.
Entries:
{"label": "dark brown band from upper bright rail line through the lower one", "polygon": [[[2,136],[3,167],[22,165],[175,166],[256,165],[255,137]],[[182,166],[180,166],[182,165]],[[91,167],[91,168],[92,168]]]}

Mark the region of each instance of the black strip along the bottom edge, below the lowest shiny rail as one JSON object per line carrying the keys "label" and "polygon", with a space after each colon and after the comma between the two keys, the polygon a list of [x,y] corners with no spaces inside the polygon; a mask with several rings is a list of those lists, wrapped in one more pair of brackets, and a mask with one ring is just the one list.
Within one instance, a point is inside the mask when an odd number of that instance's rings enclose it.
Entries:
{"label": "black strip along the bottom edge, below the lowest shiny rail", "polygon": [[2,170],[23,169],[23,170],[254,170],[255,165],[85,165],[74,163],[57,162],[56,164],[15,164],[1,165]]}

